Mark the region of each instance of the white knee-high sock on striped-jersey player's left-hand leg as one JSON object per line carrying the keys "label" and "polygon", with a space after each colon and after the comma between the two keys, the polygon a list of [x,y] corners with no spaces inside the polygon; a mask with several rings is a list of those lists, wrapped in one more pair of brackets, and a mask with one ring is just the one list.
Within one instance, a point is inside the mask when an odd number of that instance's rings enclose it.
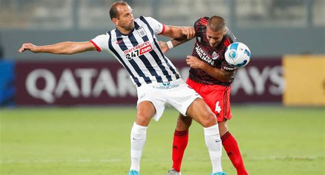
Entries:
{"label": "white knee-high sock on striped-jersey player's left-hand leg", "polygon": [[140,172],[140,161],[143,146],[147,136],[147,126],[140,126],[134,122],[131,130],[131,167],[130,170]]}

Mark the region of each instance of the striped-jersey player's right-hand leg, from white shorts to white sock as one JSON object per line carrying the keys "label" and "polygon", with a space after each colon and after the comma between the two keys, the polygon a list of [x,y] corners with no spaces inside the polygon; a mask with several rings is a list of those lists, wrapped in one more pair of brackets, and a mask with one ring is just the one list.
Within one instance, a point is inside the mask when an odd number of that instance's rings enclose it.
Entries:
{"label": "striped-jersey player's right-hand leg, from white shorts to white sock", "polygon": [[178,87],[169,91],[168,103],[178,109],[183,116],[193,118],[204,127],[204,138],[213,164],[213,175],[224,174],[221,168],[221,139],[217,119],[202,97],[180,80]]}

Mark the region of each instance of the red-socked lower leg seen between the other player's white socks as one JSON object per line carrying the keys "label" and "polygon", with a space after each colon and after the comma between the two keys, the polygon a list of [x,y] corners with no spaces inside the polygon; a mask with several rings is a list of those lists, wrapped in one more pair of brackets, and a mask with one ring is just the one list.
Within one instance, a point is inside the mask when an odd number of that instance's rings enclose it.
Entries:
{"label": "red-socked lower leg seen between the other player's white socks", "polygon": [[[192,124],[192,118],[185,117],[181,113],[178,116],[176,130],[173,135],[173,150],[172,159],[173,166],[169,174],[179,174],[180,166],[182,165],[182,159],[187,143],[189,142],[189,127]],[[174,172],[173,172],[174,170]],[[168,175],[169,175],[168,174]]]}

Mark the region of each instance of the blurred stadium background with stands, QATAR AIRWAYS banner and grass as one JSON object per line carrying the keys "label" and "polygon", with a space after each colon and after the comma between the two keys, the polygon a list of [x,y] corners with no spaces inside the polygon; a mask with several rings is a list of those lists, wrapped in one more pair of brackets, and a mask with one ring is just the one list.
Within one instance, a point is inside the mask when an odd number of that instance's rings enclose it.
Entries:
{"label": "blurred stadium background with stands, QATAR AIRWAYS banner and grass", "polygon": [[[0,0],[0,174],[126,174],[136,92],[123,68],[103,53],[17,52],[24,42],[87,41],[113,29],[112,2]],[[248,170],[324,174],[324,0],[128,3],[135,18],[152,16],[165,25],[224,16],[253,55],[237,70],[230,99],[230,129]],[[192,49],[193,41],[167,53],[183,78]],[[143,174],[169,169],[176,116],[167,109],[149,127]],[[190,137],[184,174],[208,174],[200,126],[194,124]]]}

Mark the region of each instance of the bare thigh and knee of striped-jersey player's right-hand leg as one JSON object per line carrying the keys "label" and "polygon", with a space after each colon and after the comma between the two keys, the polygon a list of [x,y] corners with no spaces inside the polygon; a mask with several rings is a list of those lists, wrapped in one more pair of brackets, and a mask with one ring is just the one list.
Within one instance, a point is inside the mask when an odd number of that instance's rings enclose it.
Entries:
{"label": "bare thigh and knee of striped-jersey player's right-hand leg", "polygon": [[187,109],[186,115],[190,116],[193,120],[199,122],[204,127],[217,124],[215,115],[202,98],[197,98],[193,101]]}

